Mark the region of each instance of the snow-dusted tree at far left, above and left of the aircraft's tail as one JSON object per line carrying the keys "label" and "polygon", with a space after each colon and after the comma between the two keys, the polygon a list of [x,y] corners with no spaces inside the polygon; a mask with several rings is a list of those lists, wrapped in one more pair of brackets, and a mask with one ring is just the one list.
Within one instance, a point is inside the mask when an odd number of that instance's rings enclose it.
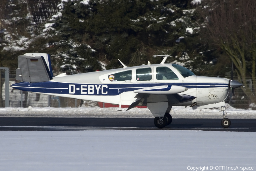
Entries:
{"label": "snow-dusted tree at far left, above and left of the aircraft's tail", "polygon": [[1,1],[0,7],[0,56],[1,66],[15,67],[16,52],[28,48],[31,20],[26,3]]}

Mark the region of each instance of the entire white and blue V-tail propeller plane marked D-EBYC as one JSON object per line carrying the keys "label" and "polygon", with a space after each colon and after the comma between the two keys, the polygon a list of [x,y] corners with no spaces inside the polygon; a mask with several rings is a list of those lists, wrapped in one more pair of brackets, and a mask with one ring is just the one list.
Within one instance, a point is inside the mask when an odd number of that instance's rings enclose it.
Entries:
{"label": "entire white and blue V-tail propeller plane marked D-EBYC", "polygon": [[33,93],[70,97],[104,103],[147,106],[155,117],[154,124],[163,128],[172,122],[172,106],[193,109],[221,107],[221,125],[229,127],[225,100],[230,90],[241,83],[226,78],[195,76],[176,64],[150,64],[53,77],[49,54],[26,53],[18,56],[16,79],[12,87]]}

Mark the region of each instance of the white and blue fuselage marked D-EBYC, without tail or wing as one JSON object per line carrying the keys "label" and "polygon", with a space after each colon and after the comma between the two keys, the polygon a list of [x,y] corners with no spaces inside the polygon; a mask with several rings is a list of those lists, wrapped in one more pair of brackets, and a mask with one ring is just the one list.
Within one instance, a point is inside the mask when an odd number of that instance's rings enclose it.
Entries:
{"label": "white and blue fuselage marked D-EBYC, without tail or wing", "polygon": [[[158,67],[169,68],[173,71],[172,74],[175,74],[176,77],[174,79],[171,78],[170,80],[158,79]],[[149,78],[140,80],[142,78],[138,77],[143,77],[146,74],[140,74],[138,73],[138,70],[145,70],[145,68],[148,70],[146,72],[149,72],[146,73],[148,74]],[[116,74],[125,72],[131,73],[131,77],[119,77],[119,80],[116,78]],[[113,80],[112,78],[109,78],[111,75],[115,76]],[[155,64],[76,75],[56,76],[53,77],[53,80],[47,82],[21,82],[12,85],[12,87],[22,91],[121,105],[131,105],[131,103],[136,99],[135,96],[137,94],[133,91],[155,86],[185,87],[187,90],[181,92],[180,94],[196,97],[191,101],[185,102],[179,101],[175,103],[175,100],[173,102],[171,101],[170,103],[172,103],[172,106],[189,106],[195,102],[197,105],[207,105],[222,102],[227,98],[229,79],[195,75],[184,78],[182,74],[172,66],[172,64]],[[160,93],[162,90],[159,90],[158,92],[157,90],[154,91],[156,94],[159,94],[158,96],[163,97],[162,101],[166,101],[166,97],[164,97],[165,95],[161,95]],[[172,94],[172,92],[170,92],[170,94]]]}

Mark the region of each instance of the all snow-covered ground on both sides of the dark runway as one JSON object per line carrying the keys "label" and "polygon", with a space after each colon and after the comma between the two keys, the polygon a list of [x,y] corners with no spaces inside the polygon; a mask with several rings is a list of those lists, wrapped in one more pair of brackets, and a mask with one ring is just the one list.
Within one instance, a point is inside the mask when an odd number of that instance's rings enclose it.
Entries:
{"label": "all snow-covered ground on both sides of the dark runway", "polygon": [[[126,108],[117,109],[9,107],[0,108],[0,115],[153,118],[147,108],[133,108],[127,112]],[[222,118],[219,111],[174,107],[171,115],[174,118]],[[256,118],[253,110],[227,106],[226,111],[228,118]],[[256,132],[0,131],[0,140],[0,170],[5,171],[256,169]]]}

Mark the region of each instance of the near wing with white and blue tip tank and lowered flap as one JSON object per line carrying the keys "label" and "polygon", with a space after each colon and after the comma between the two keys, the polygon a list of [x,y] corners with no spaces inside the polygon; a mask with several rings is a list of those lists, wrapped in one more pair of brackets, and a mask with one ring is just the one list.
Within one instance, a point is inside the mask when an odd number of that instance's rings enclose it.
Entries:
{"label": "near wing with white and blue tip tank and lowered flap", "polygon": [[138,105],[146,106],[146,103],[168,102],[168,105],[174,105],[191,101],[196,98],[186,94],[179,94],[186,90],[186,87],[167,85],[134,90],[133,92],[138,93],[135,96],[137,99],[128,107],[127,110]]}

